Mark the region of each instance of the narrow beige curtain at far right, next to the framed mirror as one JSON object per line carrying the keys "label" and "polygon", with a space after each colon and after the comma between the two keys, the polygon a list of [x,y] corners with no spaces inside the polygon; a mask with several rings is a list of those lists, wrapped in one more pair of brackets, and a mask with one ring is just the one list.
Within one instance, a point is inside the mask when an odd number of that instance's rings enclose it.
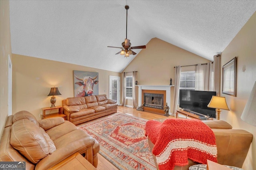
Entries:
{"label": "narrow beige curtain at far right, next to the framed mirror", "polygon": [[216,95],[220,94],[220,55],[213,56],[214,67],[214,90]]}

